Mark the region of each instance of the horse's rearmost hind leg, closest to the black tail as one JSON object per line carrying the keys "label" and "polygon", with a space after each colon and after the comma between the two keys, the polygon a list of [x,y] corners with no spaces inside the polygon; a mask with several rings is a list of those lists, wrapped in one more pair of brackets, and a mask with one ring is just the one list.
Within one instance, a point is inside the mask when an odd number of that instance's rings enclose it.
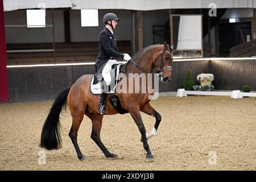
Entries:
{"label": "horse's rearmost hind leg, closest to the black tail", "polygon": [[80,151],[80,148],[79,148],[79,145],[77,144],[77,131],[79,130],[79,127],[81,125],[81,122],[82,122],[82,118],[83,118],[83,115],[79,118],[73,118],[73,123],[72,123],[72,126],[71,126],[71,130],[69,131],[69,137],[71,138],[72,140],[72,143],[75,147],[75,150],[76,150],[76,153],[77,153],[77,157],[80,159],[80,160],[84,160],[85,159],[85,156],[82,155],[81,151]]}

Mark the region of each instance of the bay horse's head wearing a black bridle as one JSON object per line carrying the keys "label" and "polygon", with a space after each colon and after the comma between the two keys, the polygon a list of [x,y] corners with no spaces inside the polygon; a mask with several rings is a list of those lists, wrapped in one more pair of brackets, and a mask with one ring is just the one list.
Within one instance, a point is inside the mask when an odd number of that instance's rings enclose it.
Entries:
{"label": "bay horse's head wearing a black bridle", "polygon": [[154,67],[160,77],[160,81],[167,82],[171,80],[172,60],[173,50],[166,42],[164,42],[163,50],[160,54],[158,53],[158,56],[154,61]]}

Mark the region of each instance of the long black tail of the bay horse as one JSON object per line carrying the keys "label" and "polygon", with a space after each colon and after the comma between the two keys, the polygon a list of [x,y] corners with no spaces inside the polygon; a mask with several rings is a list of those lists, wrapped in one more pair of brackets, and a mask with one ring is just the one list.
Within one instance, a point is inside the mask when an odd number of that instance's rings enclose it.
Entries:
{"label": "long black tail of the bay horse", "polygon": [[70,88],[67,88],[59,93],[53,102],[52,108],[44,122],[41,134],[40,147],[47,150],[61,148],[60,137],[60,113],[61,110],[67,108],[67,98]]}

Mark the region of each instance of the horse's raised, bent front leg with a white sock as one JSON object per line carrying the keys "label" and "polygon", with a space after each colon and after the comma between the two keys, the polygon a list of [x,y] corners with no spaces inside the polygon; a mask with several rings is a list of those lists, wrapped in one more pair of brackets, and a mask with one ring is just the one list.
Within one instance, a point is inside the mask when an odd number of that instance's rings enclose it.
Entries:
{"label": "horse's raised, bent front leg with a white sock", "polygon": [[[146,113],[148,115],[152,115],[155,117],[154,128],[150,131],[150,133],[146,134],[146,138],[148,139],[153,137],[156,134],[156,130],[158,130],[158,126],[162,118],[161,118],[161,115],[149,104],[149,102],[141,107],[141,111],[143,113]],[[141,142],[142,142],[142,138],[141,138]]]}

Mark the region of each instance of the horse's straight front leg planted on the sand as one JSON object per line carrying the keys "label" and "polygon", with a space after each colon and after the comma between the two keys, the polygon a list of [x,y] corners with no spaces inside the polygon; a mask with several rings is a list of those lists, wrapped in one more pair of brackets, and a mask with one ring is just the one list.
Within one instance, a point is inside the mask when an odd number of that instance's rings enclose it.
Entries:
{"label": "horse's straight front leg planted on the sand", "polygon": [[141,113],[139,111],[139,108],[133,108],[133,110],[129,110],[131,117],[133,117],[135,123],[137,124],[139,131],[141,132],[141,137],[142,137],[142,142],[143,142],[143,147],[146,150],[146,159],[152,161],[154,160],[153,155],[151,154],[150,148],[147,143],[147,138],[146,138],[146,129],[144,127],[144,124],[142,122],[141,118]]}

